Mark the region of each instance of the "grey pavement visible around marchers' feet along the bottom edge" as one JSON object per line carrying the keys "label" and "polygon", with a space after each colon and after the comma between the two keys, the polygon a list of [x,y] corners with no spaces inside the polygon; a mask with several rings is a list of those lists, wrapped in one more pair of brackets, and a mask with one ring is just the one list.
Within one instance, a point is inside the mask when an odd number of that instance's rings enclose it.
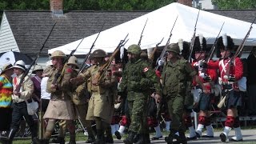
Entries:
{"label": "grey pavement visible around marchers' feet along the bottom edge", "polygon": [[[220,138],[218,137],[221,132],[215,132],[214,138],[200,138],[198,140],[190,141],[188,143],[192,144],[210,144],[210,143],[224,143],[221,142]],[[226,142],[226,143],[255,143],[256,144],[256,129],[255,130],[242,130],[243,134],[243,142]],[[234,136],[234,130],[230,131],[230,138]],[[77,142],[79,144],[85,143],[82,141]],[[122,140],[114,139],[114,143],[123,143]],[[166,143],[164,138],[160,140],[151,141],[151,143]]]}

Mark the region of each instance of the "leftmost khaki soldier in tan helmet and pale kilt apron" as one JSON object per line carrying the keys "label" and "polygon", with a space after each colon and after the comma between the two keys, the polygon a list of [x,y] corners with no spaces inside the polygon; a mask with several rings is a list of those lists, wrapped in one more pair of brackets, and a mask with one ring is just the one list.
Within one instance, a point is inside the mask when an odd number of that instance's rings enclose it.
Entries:
{"label": "leftmost khaki soldier in tan helmet and pale kilt apron", "polygon": [[[74,129],[73,120],[76,118],[74,106],[71,102],[70,91],[74,90],[73,85],[70,83],[70,78],[74,78],[74,70],[69,66],[64,65],[66,55],[56,50],[51,54],[53,63],[53,72],[49,75],[47,82],[47,92],[51,94],[51,99],[46,110],[46,114],[43,118],[48,118],[48,125],[46,126],[46,132],[43,135],[42,140],[38,140],[38,143],[49,143],[49,139],[54,130],[56,120],[66,120],[67,128]],[[60,77],[62,75],[62,77]],[[61,78],[58,80],[58,78]],[[54,83],[54,81],[57,82]],[[65,126],[65,125],[63,125]],[[74,131],[74,130],[69,130]],[[72,135],[72,134],[71,134]],[[63,135],[64,138],[64,135]],[[75,140],[71,140],[75,143]]]}

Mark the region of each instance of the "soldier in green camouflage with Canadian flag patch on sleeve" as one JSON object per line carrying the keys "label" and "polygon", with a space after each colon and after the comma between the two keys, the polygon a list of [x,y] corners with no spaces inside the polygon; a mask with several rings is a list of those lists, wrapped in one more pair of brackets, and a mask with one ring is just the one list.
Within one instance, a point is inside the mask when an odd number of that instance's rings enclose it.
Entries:
{"label": "soldier in green camouflage with Canadian flag patch on sleeve", "polygon": [[126,64],[122,74],[120,88],[122,91],[127,91],[131,123],[128,138],[123,142],[132,144],[134,135],[142,126],[142,133],[144,134],[141,134],[142,141],[138,143],[146,143],[148,131],[146,130],[146,117],[143,117],[143,110],[146,109],[146,101],[150,97],[152,87],[156,90],[156,98],[160,100],[160,85],[154,70],[150,69],[148,62],[142,61],[140,58],[141,48],[138,45],[131,45],[127,52],[130,61]]}

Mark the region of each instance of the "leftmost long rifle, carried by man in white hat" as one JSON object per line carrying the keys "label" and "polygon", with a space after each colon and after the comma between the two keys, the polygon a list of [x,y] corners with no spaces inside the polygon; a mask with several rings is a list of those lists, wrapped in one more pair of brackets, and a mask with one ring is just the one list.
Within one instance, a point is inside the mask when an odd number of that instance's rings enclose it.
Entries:
{"label": "leftmost long rifle, carried by man in white hat", "polygon": [[[56,23],[57,23],[57,22],[54,23],[54,26],[56,25]],[[40,48],[40,50],[39,50],[39,52],[38,52],[37,58],[34,58],[34,61],[31,62],[30,66],[26,69],[26,71],[24,72],[24,74],[22,74],[22,78],[21,78],[20,81],[18,82],[18,86],[16,87],[16,89],[15,89],[14,91],[17,91],[17,92],[20,91],[22,82],[24,81],[26,75],[29,74],[31,67],[34,66],[34,64],[36,64],[36,63],[38,62],[38,58],[39,58],[40,54],[42,53],[42,49],[45,47],[45,44],[46,44],[48,38],[50,38],[51,32],[54,30],[54,26],[51,28],[50,33],[48,34],[48,36],[47,36],[45,42],[42,43],[42,46],[41,46],[41,48]]]}

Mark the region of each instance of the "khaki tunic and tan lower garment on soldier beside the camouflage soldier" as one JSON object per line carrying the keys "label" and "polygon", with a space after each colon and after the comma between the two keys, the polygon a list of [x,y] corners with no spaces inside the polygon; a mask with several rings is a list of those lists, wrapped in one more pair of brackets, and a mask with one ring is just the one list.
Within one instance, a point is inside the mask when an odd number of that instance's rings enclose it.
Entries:
{"label": "khaki tunic and tan lower garment on soldier beside the camouflage soldier", "polygon": [[86,120],[94,120],[95,117],[102,118],[103,121],[110,123],[114,113],[114,94],[111,92],[117,89],[117,78],[114,77],[111,70],[103,74],[102,81],[98,86],[92,84],[97,77],[100,66],[91,66],[81,76],[86,80],[90,78],[91,97],[89,101]]}

